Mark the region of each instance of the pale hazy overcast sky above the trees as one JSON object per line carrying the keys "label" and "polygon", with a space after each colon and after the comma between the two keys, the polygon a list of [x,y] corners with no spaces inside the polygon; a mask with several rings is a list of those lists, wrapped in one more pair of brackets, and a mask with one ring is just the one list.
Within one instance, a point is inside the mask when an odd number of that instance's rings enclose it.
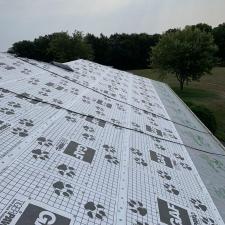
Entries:
{"label": "pale hazy overcast sky above the trees", "polygon": [[0,51],[59,31],[162,33],[225,22],[225,0],[0,0]]}

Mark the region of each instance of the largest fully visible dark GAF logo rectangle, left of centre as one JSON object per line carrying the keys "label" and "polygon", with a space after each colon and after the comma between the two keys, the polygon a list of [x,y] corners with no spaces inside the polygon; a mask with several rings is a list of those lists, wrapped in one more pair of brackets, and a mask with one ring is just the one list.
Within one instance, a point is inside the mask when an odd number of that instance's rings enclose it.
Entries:
{"label": "largest fully visible dark GAF logo rectangle, left of centre", "polygon": [[73,156],[77,159],[80,159],[84,162],[91,163],[95,155],[95,150],[88,147],[84,147],[83,145],[78,144],[77,142],[70,141],[70,143],[64,150],[64,153]]}

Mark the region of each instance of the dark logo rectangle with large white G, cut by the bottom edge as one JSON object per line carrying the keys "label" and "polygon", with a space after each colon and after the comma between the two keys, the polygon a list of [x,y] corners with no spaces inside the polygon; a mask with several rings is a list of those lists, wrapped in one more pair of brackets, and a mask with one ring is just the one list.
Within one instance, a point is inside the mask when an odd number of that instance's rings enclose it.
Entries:
{"label": "dark logo rectangle with large white G, cut by the bottom edge", "polygon": [[[69,225],[71,220],[33,204],[28,204],[16,225]],[[7,223],[9,224],[9,223]]]}

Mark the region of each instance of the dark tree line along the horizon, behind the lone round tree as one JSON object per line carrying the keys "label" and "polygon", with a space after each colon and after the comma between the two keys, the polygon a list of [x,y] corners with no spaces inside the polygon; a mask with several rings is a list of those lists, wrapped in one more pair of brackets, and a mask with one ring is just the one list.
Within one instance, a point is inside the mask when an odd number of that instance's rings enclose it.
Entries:
{"label": "dark tree line along the horizon, behind the lone round tree", "polygon": [[[224,64],[225,23],[214,28],[204,23],[189,27],[213,36],[218,47],[218,63]],[[153,35],[116,33],[110,36],[95,36],[90,33],[84,35],[80,31],[75,31],[72,35],[68,32],[57,32],[40,36],[33,41],[16,42],[8,52],[45,62],[67,62],[82,58],[123,70],[144,69],[151,65],[152,48],[163,35],[178,30],[169,29],[163,34]]]}

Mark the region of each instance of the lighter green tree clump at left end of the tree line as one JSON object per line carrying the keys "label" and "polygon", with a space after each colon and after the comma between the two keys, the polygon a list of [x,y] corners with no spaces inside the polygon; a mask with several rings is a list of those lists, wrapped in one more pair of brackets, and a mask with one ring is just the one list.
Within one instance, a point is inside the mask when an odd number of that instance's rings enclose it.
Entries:
{"label": "lighter green tree clump at left end of the tree line", "polygon": [[75,31],[72,36],[67,32],[58,32],[40,36],[34,41],[16,42],[8,52],[45,62],[67,62],[78,58],[93,58],[91,45],[79,31]]}

